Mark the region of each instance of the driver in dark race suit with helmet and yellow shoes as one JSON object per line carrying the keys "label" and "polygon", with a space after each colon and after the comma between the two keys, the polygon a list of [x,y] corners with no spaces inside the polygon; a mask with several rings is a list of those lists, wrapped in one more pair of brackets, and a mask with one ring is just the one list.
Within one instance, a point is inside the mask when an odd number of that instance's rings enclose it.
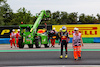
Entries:
{"label": "driver in dark race suit with helmet and yellow shoes", "polygon": [[67,59],[68,55],[67,55],[67,44],[69,42],[69,35],[67,32],[67,29],[65,26],[62,27],[62,31],[60,33],[60,37],[61,37],[61,56],[60,58],[63,58],[63,45],[65,45],[65,58]]}

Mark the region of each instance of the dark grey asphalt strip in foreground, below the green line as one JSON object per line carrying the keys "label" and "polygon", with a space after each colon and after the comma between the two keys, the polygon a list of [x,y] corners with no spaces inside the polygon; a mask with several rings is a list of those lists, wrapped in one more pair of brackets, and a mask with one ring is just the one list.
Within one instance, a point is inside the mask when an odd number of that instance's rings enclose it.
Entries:
{"label": "dark grey asphalt strip in foreground, below the green line", "polygon": [[82,51],[82,59],[77,61],[72,51],[68,59],[59,56],[60,51],[1,52],[0,66],[100,65],[100,51]]}

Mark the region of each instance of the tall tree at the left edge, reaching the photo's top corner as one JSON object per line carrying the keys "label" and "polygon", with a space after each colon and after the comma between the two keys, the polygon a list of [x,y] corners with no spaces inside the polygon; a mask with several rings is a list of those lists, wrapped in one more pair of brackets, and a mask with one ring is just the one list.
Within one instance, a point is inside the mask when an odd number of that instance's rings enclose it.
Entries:
{"label": "tall tree at the left edge, reaching the photo's top corner", "polygon": [[6,25],[10,22],[10,16],[12,10],[10,6],[6,3],[7,0],[0,0],[0,24]]}

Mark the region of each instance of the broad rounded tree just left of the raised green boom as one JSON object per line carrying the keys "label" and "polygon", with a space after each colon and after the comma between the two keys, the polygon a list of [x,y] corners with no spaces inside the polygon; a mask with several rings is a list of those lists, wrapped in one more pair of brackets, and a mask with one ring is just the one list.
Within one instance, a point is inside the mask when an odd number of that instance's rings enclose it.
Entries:
{"label": "broad rounded tree just left of the raised green boom", "polygon": [[27,11],[24,7],[17,10],[17,13],[13,14],[11,20],[12,25],[19,25],[21,22],[24,24],[33,24],[35,16],[32,17],[30,11]]}

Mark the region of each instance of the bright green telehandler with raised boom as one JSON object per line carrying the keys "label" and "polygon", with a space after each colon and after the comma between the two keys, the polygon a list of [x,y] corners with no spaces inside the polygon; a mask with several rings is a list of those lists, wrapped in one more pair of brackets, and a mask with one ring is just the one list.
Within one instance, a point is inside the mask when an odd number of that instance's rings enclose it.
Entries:
{"label": "bright green telehandler with raised boom", "polygon": [[49,14],[45,10],[42,10],[34,25],[32,24],[21,24],[20,27],[20,38],[19,38],[19,48],[24,48],[27,44],[29,48],[33,48],[35,44],[36,48],[41,48],[41,44],[44,44],[45,48],[49,47],[48,35],[37,33],[37,28],[43,18],[48,18]]}

